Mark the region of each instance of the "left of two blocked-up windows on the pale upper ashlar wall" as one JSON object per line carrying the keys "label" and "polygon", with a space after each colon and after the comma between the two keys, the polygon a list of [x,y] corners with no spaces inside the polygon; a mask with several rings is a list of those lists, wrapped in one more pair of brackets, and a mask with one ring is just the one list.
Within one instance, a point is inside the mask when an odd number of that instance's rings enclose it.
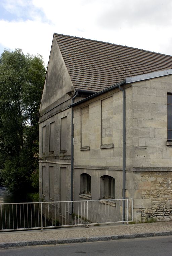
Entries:
{"label": "left of two blocked-up windows on the pale upper ashlar wall", "polygon": [[89,144],[89,106],[87,106],[81,109],[81,147]]}

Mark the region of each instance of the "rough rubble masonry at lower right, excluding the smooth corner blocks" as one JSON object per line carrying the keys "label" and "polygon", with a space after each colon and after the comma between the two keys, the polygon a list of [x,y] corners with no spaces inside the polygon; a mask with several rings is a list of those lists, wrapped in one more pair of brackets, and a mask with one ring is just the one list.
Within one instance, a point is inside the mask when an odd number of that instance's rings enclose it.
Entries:
{"label": "rough rubble masonry at lower right, excluding the smooth corner blocks", "polygon": [[172,220],[172,172],[141,172],[141,181],[150,183],[142,188],[142,199],[149,200],[149,205],[141,207],[142,221]]}

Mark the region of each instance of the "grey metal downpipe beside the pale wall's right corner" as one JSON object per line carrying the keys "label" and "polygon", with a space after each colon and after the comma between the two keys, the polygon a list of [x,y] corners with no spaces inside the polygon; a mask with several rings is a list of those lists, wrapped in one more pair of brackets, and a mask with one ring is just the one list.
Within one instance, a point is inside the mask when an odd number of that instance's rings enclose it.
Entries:
{"label": "grey metal downpipe beside the pale wall's right corner", "polygon": [[[126,128],[125,128],[125,119],[126,119],[126,107],[125,107],[125,90],[119,85],[118,86],[123,93],[123,188],[122,188],[122,197],[125,199],[125,166],[126,166]],[[123,200],[123,221],[125,221],[125,200]]]}

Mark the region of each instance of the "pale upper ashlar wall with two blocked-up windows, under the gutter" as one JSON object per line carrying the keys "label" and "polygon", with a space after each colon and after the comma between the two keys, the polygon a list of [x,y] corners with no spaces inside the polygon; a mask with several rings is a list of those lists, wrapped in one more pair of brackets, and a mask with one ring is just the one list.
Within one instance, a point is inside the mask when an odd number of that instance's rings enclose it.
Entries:
{"label": "pale upper ashlar wall with two blocked-up windows, under the gutter", "polygon": [[[128,138],[126,155],[131,163],[133,121],[131,85],[126,88],[126,95],[126,136]],[[84,120],[84,111],[82,110],[86,107],[89,110],[85,113],[85,119],[88,120],[89,113],[89,122],[83,129],[81,121]],[[85,134],[88,145],[81,143]],[[122,170],[123,97],[119,89],[74,107],[74,164],[84,167],[116,167]]]}

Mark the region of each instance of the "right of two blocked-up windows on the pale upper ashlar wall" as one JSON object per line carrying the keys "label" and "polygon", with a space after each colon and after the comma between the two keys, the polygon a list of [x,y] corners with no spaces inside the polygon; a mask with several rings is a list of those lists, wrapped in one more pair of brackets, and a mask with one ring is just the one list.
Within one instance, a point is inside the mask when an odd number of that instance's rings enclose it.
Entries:
{"label": "right of two blocked-up windows on the pale upper ashlar wall", "polygon": [[113,143],[113,99],[101,101],[101,144]]}

